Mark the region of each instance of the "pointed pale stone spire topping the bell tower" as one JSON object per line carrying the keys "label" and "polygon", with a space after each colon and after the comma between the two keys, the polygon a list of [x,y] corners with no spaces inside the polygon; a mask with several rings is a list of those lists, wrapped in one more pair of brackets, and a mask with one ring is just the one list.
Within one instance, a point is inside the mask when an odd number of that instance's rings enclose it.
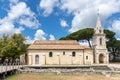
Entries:
{"label": "pointed pale stone spire topping the bell tower", "polygon": [[104,33],[99,13],[98,13],[98,16],[97,16],[96,27],[95,27],[94,30],[95,30],[95,34],[103,34]]}

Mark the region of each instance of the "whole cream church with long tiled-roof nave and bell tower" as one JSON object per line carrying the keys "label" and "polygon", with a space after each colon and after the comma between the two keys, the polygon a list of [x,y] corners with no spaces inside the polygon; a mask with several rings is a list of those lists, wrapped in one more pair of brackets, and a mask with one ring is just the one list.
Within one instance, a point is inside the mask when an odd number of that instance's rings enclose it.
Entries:
{"label": "whole cream church with long tiled-roof nave and bell tower", "polygon": [[104,29],[100,16],[96,21],[93,47],[81,46],[76,40],[36,40],[28,47],[28,65],[108,64]]}

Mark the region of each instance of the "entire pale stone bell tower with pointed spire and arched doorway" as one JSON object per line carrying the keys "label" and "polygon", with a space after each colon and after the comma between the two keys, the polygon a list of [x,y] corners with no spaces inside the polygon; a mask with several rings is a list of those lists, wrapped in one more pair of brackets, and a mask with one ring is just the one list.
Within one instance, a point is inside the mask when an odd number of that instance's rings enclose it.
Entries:
{"label": "entire pale stone bell tower with pointed spire and arched doorway", "polygon": [[98,14],[96,27],[94,28],[93,44],[94,44],[94,62],[96,64],[109,63],[109,55],[106,48],[106,38],[104,29],[101,24],[100,15]]}

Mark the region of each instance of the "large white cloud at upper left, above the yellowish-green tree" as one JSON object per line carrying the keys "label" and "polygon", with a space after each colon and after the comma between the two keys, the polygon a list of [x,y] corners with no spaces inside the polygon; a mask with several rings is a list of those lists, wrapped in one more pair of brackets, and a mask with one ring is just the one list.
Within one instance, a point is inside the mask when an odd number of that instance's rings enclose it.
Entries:
{"label": "large white cloud at upper left, above the yellowish-green tree", "polygon": [[40,23],[25,2],[10,0],[10,9],[7,16],[0,19],[0,34],[21,33],[24,30],[23,26],[37,28],[40,26]]}

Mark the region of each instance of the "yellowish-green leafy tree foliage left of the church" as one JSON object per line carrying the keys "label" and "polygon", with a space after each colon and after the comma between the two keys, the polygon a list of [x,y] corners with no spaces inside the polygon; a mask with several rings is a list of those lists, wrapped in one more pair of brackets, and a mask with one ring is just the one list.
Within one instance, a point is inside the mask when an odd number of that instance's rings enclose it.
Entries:
{"label": "yellowish-green leafy tree foliage left of the church", "polygon": [[15,59],[19,58],[21,54],[27,52],[27,47],[24,43],[25,38],[21,34],[13,34],[11,37],[4,34],[0,38],[0,57]]}

